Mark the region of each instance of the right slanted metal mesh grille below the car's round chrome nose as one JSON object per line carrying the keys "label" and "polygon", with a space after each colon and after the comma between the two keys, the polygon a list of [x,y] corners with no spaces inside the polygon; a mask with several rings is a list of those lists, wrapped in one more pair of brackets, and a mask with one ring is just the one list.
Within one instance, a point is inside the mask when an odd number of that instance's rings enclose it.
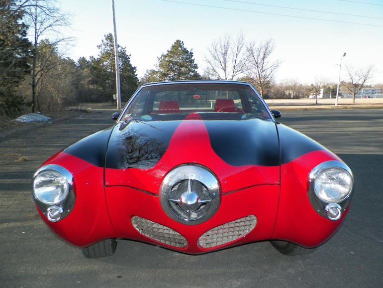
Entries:
{"label": "right slanted metal mesh grille below the car's round chrome nose", "polygon": [[211,248],[227,244],[250,233],[256,224],[257,217],[249,215],[219,225],[203,233],[198,239],[198,244],[202,248]]}

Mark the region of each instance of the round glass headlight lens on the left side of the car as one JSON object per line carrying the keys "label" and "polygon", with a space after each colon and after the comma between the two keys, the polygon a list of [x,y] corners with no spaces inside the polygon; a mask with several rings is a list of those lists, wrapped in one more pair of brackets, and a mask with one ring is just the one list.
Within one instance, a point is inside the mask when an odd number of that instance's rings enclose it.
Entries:
{"label": "round glass headlight lens on the left side of the car", "polygon": [[58,204],[68,196],[71,184],[56,170],[42,170],[33,179],[33,194],[44,204]]}

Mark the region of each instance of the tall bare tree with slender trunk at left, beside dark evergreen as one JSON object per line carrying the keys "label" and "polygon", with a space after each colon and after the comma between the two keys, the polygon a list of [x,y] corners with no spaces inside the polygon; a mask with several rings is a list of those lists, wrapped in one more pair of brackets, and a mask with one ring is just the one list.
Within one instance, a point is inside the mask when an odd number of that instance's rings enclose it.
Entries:
{"label": "tall bare tree with slender trunk at left, beside dark evergreen", "polygon": [[21,0],[20,6],[25,10],[27,23],[33,33],[32,49],[32,112],[36,111],[36,89],[38,74],[37,68],[38,44],[42,37],[50,38],[51,43],[58,45],[71,38],[60,37],[59,28],[68,26],[68,14],[62,13],[56,6],[56,0]]}

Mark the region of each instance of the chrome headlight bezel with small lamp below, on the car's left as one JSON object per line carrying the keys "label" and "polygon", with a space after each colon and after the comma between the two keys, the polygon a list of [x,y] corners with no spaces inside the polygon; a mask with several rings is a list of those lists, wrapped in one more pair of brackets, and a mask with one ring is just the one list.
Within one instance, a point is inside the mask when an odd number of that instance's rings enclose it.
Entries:
{"label": "chrome headlight bezel with small lamp below, on the car's left", "polygon": [[[57,176],[57,190],[54,195],[50,193],[44,193],[38,191],[42,187],[36,187],[38,181],[42,175],[47,174],[54,181],[54,177]],[[42,189],[43,190],[43,189]],[[36,171],[32,181],[32,194],[33,199],[37,207],[47,217],[50,222],[57,222],[69,215],[73,210],[76,194],[74,191],[74,178],[71,172],[69,172],[63,166],[57,164],[47,164]],[[52,217],[52,211],[55,211],[55,216]],[[58,213],[58,214],[57,214]]]}

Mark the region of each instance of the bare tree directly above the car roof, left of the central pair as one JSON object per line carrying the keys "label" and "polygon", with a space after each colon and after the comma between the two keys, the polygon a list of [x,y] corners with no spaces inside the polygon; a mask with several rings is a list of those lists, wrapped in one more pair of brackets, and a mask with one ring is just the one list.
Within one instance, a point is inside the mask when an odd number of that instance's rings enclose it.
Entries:
{"label": "bare tree directly above the car roof, left of the central pair", "polygon": [[246,47],[243,31],[235,37],[226,34],[215,39],[209,48],[208,56],[205,56],[205,73],[219,80],[234,80],[246,71]]}

